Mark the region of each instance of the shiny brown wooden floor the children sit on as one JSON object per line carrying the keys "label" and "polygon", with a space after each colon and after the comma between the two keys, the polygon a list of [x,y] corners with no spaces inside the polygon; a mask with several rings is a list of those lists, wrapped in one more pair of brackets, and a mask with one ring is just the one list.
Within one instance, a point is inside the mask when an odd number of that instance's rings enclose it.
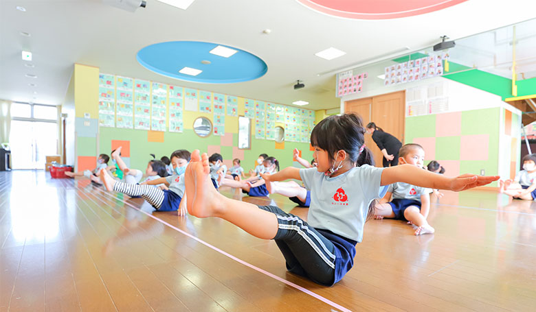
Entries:
{"label": "shiny brown wooden floor the children sit on", "polygon": [[152,213],[43,171],[0,172],[0,311],[536,311],[536,203],[489,191],[439,202],[435,235],[368,221],[353,269],[321,287],[287,273],[273,241],[221,219]]}

